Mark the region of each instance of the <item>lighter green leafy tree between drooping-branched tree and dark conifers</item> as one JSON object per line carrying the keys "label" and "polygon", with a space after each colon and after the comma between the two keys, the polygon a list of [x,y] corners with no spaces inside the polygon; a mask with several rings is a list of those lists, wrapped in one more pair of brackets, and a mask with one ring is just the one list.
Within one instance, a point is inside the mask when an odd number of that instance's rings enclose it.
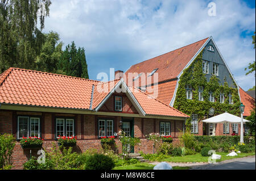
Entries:
{"label": "lighter green leafy tree between drooping-branched tree and dark conifers", "polygon": [[61,50],[63,43],[59,42],[59,34],[53,31],[45,33],[44,39],[40,54],[36,57],[36,70],[56,73],[57,65],[63,53]]}

